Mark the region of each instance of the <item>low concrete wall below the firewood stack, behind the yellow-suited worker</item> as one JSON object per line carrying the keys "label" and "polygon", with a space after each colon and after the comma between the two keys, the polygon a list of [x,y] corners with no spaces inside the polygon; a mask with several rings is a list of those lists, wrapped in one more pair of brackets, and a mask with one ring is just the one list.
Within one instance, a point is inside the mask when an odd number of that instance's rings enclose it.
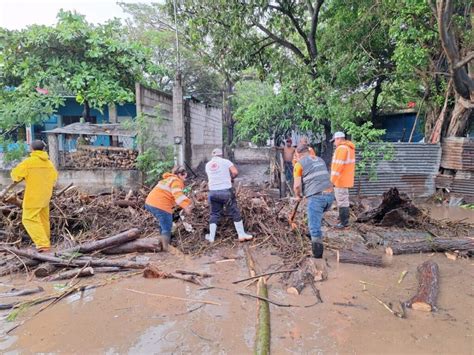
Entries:
{"label": "low concrete wall below the firewood stack, behind the yellow-suited worker", "polygon": [[[10,171],[0,170],[0,185],[11,183]],[[110,192],[111,188],[138,190],[142,183],[142,174],[137,170],[59,170],[58,187],[73,183],[81,191],[88,193]]]}

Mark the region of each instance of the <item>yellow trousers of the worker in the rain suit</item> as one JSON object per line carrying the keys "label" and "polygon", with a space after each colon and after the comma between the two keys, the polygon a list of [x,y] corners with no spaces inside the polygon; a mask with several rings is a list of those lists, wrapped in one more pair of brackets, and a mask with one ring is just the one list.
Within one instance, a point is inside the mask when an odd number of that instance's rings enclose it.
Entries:
{"label": "yellow trousers of the worker in the rain suit", "polygon": [[37,249],[51,246],[49,206],[43,208],[23,208],[21,221]]}

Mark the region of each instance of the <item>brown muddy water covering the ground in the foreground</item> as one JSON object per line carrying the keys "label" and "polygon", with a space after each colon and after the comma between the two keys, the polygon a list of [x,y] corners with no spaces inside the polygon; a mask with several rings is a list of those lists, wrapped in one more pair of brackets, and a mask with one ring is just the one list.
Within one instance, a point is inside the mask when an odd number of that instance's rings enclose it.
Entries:
{"label": "brown muddy water covering the ground in the foreground", "polygon": [[[28,310],[18,319],[27,321],[10,335],[1,337],[0,351],[11,354],[252,353],[256,302],[237,295],[236,291],[255,293],[255,286],[245,288],[246,283],[231,283],[248,276],[242,249],[222,253],[236,260],[207,264],[222,260],[220,254],[194,260],[168,256],[160,261],[166,270],[180,268],[211,273],[215,276],[205,282],[220,288],[199,290],[199,286],[179,280],[144,279],[139,275],[111,280],[107,286],[71,296],[31,319],[40,306]],[[265,250],[255,252],[255,258],[261,271],[276,269],[281,264]],[[399,319],[370,295],[393,305],[407,300],[417,288],[417,265],[429,258],[440,266],[437,312],[407,310],[407,319]],[[387,259],[390,265],[384,269],[337,264],[333,255],[328,261],[329,280],[317,284],[324,303],[309,308],[304,306],[315,302],[311,289],[305,289],[301,296],[288,295],[278,276],[270,278],[271,299],[303,306],[270,307],[272,353],[472,354],[472,260],[452,261],[442,254],[397,256]],[[408,274],[398,284],[404,270]],[[31,286],[24,279],[2,281]],[[366,282],[365,286],[360,281]],[[51,284],[46,286],[51,290]],[[220,305],[135,294],[127,289]],[[334,302],[350,302],[354,306],[334,305]],[[4,332],[14,324],[2,320],[1,330]]]}

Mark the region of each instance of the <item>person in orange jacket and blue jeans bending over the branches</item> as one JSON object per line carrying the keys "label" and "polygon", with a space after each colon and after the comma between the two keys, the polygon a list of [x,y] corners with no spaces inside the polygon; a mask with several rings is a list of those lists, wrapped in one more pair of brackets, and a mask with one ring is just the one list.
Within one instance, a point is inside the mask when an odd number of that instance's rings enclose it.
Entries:
{"label": "person in orange jacket and blue jeans bending over the branches", "polygon": [[163,174],[163,180],[151,190],[145,200],[145,209],[157,220],[163,243],[163,250],[168,248],[173,227],[173,208],[178,205],[186,214],[193,208],[191,200],[184,194],[184,181],[187,177],[184,167],[175,167],[171,173]]}

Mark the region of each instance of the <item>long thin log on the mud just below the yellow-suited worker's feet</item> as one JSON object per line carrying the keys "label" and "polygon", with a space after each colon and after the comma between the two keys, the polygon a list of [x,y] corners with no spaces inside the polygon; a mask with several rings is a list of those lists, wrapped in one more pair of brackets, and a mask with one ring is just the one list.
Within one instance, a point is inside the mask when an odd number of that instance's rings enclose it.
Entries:
{"label": "long thin log on the mud just below the yellow-suited worker's feet", "polygon": [[46,253],[38,253],[35,251],[28,251],[22,249],[15,249],[9,247],[3,247],[5,250],[9,250],[14,252],[17,255],[37,260],[52,263],[54,265],[60,266],[68,266],[68,267],[79,267],[79,266],[116,266],[121,268],[128,268],[128,269],[144,269],[148,264],[147,263],[139,263],[129,260],[98,260],[93,258],[77,258],[77,259],[61,259],[56,256],[48,255]]}

